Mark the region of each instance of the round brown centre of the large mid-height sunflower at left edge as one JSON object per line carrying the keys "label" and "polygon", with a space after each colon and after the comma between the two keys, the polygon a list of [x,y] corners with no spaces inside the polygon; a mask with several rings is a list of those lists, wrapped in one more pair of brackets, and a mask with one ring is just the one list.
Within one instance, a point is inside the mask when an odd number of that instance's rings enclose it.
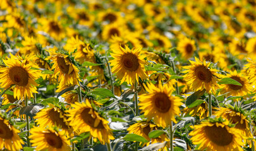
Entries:
{"label": "round brown centre of the large mid-height sunflower at left edge", "polygon": [[9,77],[18,86],[27,86],[28,84],[28,72],[23,67],[11,67]]}

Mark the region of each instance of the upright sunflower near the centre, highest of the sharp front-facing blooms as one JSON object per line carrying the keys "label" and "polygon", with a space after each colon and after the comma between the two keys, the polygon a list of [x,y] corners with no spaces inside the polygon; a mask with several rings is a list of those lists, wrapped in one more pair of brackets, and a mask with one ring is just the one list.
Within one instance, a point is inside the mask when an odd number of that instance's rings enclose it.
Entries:
{"label": "upright sunflower near the centre, highest of the sharp front-facing blooms", "polygon": [[143,55],[140,55],[142,48],[125,48],[120,47],[121,50],[113,50],[111,56],[114,60],[109,61],[111,66],[114,66],[111,71],[121,79],[121,83],[127,82],[128,84],[134,84],[138,82],[139,77],[144,80],[147,79],[145,74],[144,65],[147,62],[144,60]]}

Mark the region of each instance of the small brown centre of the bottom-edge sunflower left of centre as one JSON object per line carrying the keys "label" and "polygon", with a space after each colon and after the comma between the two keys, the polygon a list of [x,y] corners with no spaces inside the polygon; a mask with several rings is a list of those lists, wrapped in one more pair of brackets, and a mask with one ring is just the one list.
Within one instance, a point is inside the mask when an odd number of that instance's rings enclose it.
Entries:
{"label": "small brown centre of the bottom-edge sunflower left of centre", "polygon": [[46,142],[54,148],[61,148],[63,145],[61,138],[55,133],[45,133],[44,137]]}

